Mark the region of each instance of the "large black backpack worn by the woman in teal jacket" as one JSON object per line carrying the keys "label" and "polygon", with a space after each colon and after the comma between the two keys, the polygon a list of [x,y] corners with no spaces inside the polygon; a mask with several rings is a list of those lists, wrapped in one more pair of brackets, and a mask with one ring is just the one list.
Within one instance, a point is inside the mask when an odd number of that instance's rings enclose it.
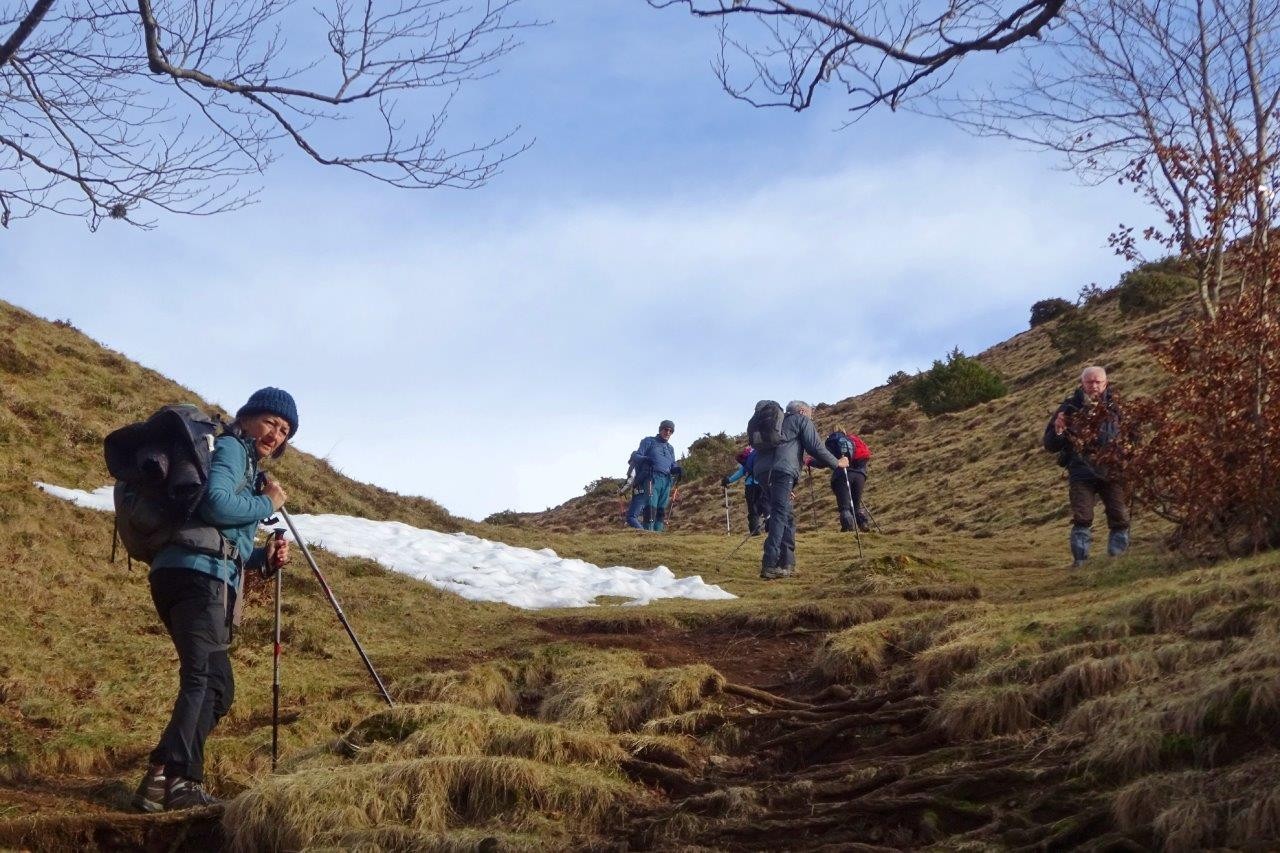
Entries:
{"label": "large black backpack worn by the woman in teal jacket", "polygon": [[192,519],[205,498],[221,432],[220,419],[182,405],[165,406],[104,439],[106,467],[115,478],[115,535],[131,560],[150,564],[168,544],[239,560],[233,542]]}

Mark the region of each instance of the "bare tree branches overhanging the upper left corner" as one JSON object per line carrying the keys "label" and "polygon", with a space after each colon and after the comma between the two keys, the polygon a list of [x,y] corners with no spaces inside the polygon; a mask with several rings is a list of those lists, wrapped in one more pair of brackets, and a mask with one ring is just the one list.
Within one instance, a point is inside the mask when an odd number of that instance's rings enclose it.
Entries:
{"label": "bare tree branches overhanging the upper left corner", "polygon": [[522,150],[443,138],[529,26],[518,0],[330,3],[0,0],[0,224],[225,211],[291,143],[408,188],[483,184]]}

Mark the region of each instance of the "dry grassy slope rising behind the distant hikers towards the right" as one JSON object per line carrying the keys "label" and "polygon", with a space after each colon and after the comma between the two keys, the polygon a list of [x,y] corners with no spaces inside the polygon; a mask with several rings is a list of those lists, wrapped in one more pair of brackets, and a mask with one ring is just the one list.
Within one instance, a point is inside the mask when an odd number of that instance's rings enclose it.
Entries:
{"label": "dry grassy slope rising behind the distant hikers towards the right", "polygon": [[[1188,298],[1162,313],[1126,319],[1115,298],[1085,306],[1084,311],[1107,332],[1091,362],[1108,369],[1115,393],[1149,393],[1162,379],[1143,336],[1160,337],[1194,310]],[[1053,348],[1050,332],[1056,323],[1016,334],[975,356],[1009,387],[1007,396],[992,402],[927,418],[915,405],[895,407],[895,388],[884,384],[835,403],[815,405],[819,435],[841,426],[859,433],[870,446],[865,501],[883,528],[983,537],[1061,524],[1062,471],[1043,452],[1041,434],[1048,415],[1074,391],[1085,364],[1062,359]],[[727,426],[745,426],[754,403],[742,401],[741,424]],[[724,530],[719,479],[736,469],[733,452],[745,435],[724,438],[700,442],[705,450],[694,451],[694,467],[703,474],[681,485],[680,501],[672,508],[673,530]],[[626,460],[620,460],[618,467],[625,465]],[[543,512],[504,512],[490,520],[566,533],[618,529],[625,510],[621,485],[621,479],[605,476],[588,487],[586,494],[561,506]],[[730,491],[730,502],[732,528],[745,533],[740,484]],[[800,483],[796,524],[799,530],[838,529],[827,471],[814,470],[812,482],[806,478]]]}

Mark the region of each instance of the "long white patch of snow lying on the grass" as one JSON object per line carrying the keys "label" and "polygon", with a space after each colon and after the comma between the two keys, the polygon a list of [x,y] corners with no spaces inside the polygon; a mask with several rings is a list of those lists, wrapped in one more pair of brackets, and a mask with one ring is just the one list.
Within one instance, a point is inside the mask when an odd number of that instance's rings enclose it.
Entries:
{"label": "long white patch of snow lying on the grass", "polygon": [[[36,485],[90,510],[111,512],[115,508],[110,485],[93,492],[47,483]],[[291,514],[289,517],[308,546],[340,557],[374,560],[392,571],[471,601],[538,610],[590,607],[600,596],[626,598],[628,605],[648,605],[658,598],[710,601],[736,597],[704,583],[699,575],[676,578],[667,566],[602,569],[582,560],[557,556],[550,548],[516,548],[467,533],[436,533],[401,521],[370,521],[347,515]]]}

